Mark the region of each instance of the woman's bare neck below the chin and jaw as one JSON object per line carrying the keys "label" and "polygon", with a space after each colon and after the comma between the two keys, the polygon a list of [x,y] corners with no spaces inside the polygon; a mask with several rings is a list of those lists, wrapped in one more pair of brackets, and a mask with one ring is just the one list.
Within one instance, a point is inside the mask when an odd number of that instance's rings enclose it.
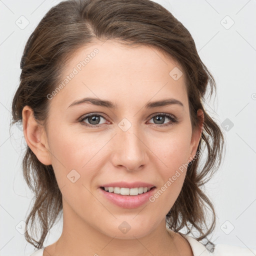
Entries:
{"label": "woman's bare neck below the chin and jaw", "polygon": [[[102,233],[81,219],[69,206],[63,204],[63,229],[59,239],[47,246],[43,256],[160,256],[179,255],[163,219],[153,231],[143,237],[119,239]],[[174,235],[174,232],[172,232]]]}

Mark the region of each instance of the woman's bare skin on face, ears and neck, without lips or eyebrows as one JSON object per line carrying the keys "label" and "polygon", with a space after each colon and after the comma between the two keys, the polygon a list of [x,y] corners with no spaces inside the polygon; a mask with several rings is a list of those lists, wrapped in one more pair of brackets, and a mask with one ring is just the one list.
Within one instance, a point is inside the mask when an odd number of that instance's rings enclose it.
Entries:
{"label": "woman's bare skin on face, ears and neck, without lips or eyebrows", "polygon": [[[94,48],[99,50],[95,57],[49,100],[46,128],[35,121],[30,107],[22,111],[26,142],[43,164],[52,165],[62,193],[62,234],[43,255],[192,255],[186,239],[165,228],[186,169],[154,202],[137,208],[119,207],[99,191],[101,184],[120,180],[152,183],[158,190],[193,158],[203,114],[197,111],[198,128],[192,133],[184,75],[178,80],[169,75],[175,66],[182,68],[155,48],[107,40],[76,51],[63,78]],[[68,107],[84,97],[109,100],[117,108],[90,103]],[[144,107],[166,98],[183,106]],[[88,118],[78,120],[92,112],[103,115],[99,127],[83,125],[91,124]],[[172,114],[178,122],[165,116],[170,125],[161,127],[152,118],[159,113]],[[118,126],[123,118],[131,124],[126,131]],[[72,169],[80,175],[74,183],[67,178]],[[131,227],[126,233],[118,228],[123,221]]]}

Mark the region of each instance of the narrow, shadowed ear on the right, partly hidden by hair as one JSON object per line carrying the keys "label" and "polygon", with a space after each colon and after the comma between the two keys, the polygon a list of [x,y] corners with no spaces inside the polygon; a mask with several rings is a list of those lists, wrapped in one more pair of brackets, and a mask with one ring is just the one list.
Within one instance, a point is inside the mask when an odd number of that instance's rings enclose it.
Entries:
{"label": "narrow, shadowed ear on the right, partly hidden by hair", "polygon": [[194,130],[194,132],[191,135],[191,142],[190,142],[190,154],[188,161],[192,161],[194,158],[194,155],[196,154],[196,150],[201,138],[202,128],[203,128],[203,121],[204,121],[204,115],[202,109],[197,110],[197,121],[198,125],[197,128]]}

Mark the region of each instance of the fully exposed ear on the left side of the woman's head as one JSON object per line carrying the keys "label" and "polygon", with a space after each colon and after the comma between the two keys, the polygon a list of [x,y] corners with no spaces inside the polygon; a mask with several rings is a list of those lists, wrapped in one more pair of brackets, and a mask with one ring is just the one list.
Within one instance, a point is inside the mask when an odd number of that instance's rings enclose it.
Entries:
{"label": "fully exposed ear on the left side of the woman's head", "polygon": [[33,110],[27,105],[24,106],[22,110],[22,123],[27,145],[41,163],[45,165],[51,164],[44,127],[35,120]]}

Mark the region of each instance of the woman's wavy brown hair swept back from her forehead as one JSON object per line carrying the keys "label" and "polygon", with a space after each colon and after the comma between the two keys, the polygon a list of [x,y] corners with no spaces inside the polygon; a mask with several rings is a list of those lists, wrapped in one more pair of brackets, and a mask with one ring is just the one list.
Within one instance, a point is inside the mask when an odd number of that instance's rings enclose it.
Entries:
{"label": "woman's wavy brown hair swept back from her forehead", "polygon": [[[20,67],[20,84],[12,101],[12,124],[22,120],[25,105],[33,109],[34,117],[45,124],[49,100],[47,94],[58,84],[61,71],[75,50],[93,44],[95,39],[116,39],[126,45],[148,45],[172,57],[182,67],[186,79],[192,129],[197,127],[197,109],[202,109],[204,122],[197,155],[187,167],[182,189],[166,215],[169,228],[188,232],[196,228],[198,241],[206,238],[215,227],[214,207],[201,190],[221,162],[223,134],[217,123],[206,113],[202,101],[206,89],[210,96],[215,81],[202,63],[188,30],[168,10],[150,0],[67,0],[52,7],[28,38]],[[200,152],[207,149],[206,160],[199,170]],[[37,231],[36,214],[40,224],[39,240],[25,239],[37,248],[62,210],[61,192],[51,165],[42,164],[27,146],[23,175],[34,192],[34,204],[26,218],[30,231]],[[209,175],[208,179],[204,179]],[[212,211],[210,227],[206,223],[206,205]],[[188,225],[192,226],[189,227]],[[204,231],[203,229],[206,228]],[[186,233],[186,234],[187,234]],[[208,240],[209,241],[209,240]]]}

